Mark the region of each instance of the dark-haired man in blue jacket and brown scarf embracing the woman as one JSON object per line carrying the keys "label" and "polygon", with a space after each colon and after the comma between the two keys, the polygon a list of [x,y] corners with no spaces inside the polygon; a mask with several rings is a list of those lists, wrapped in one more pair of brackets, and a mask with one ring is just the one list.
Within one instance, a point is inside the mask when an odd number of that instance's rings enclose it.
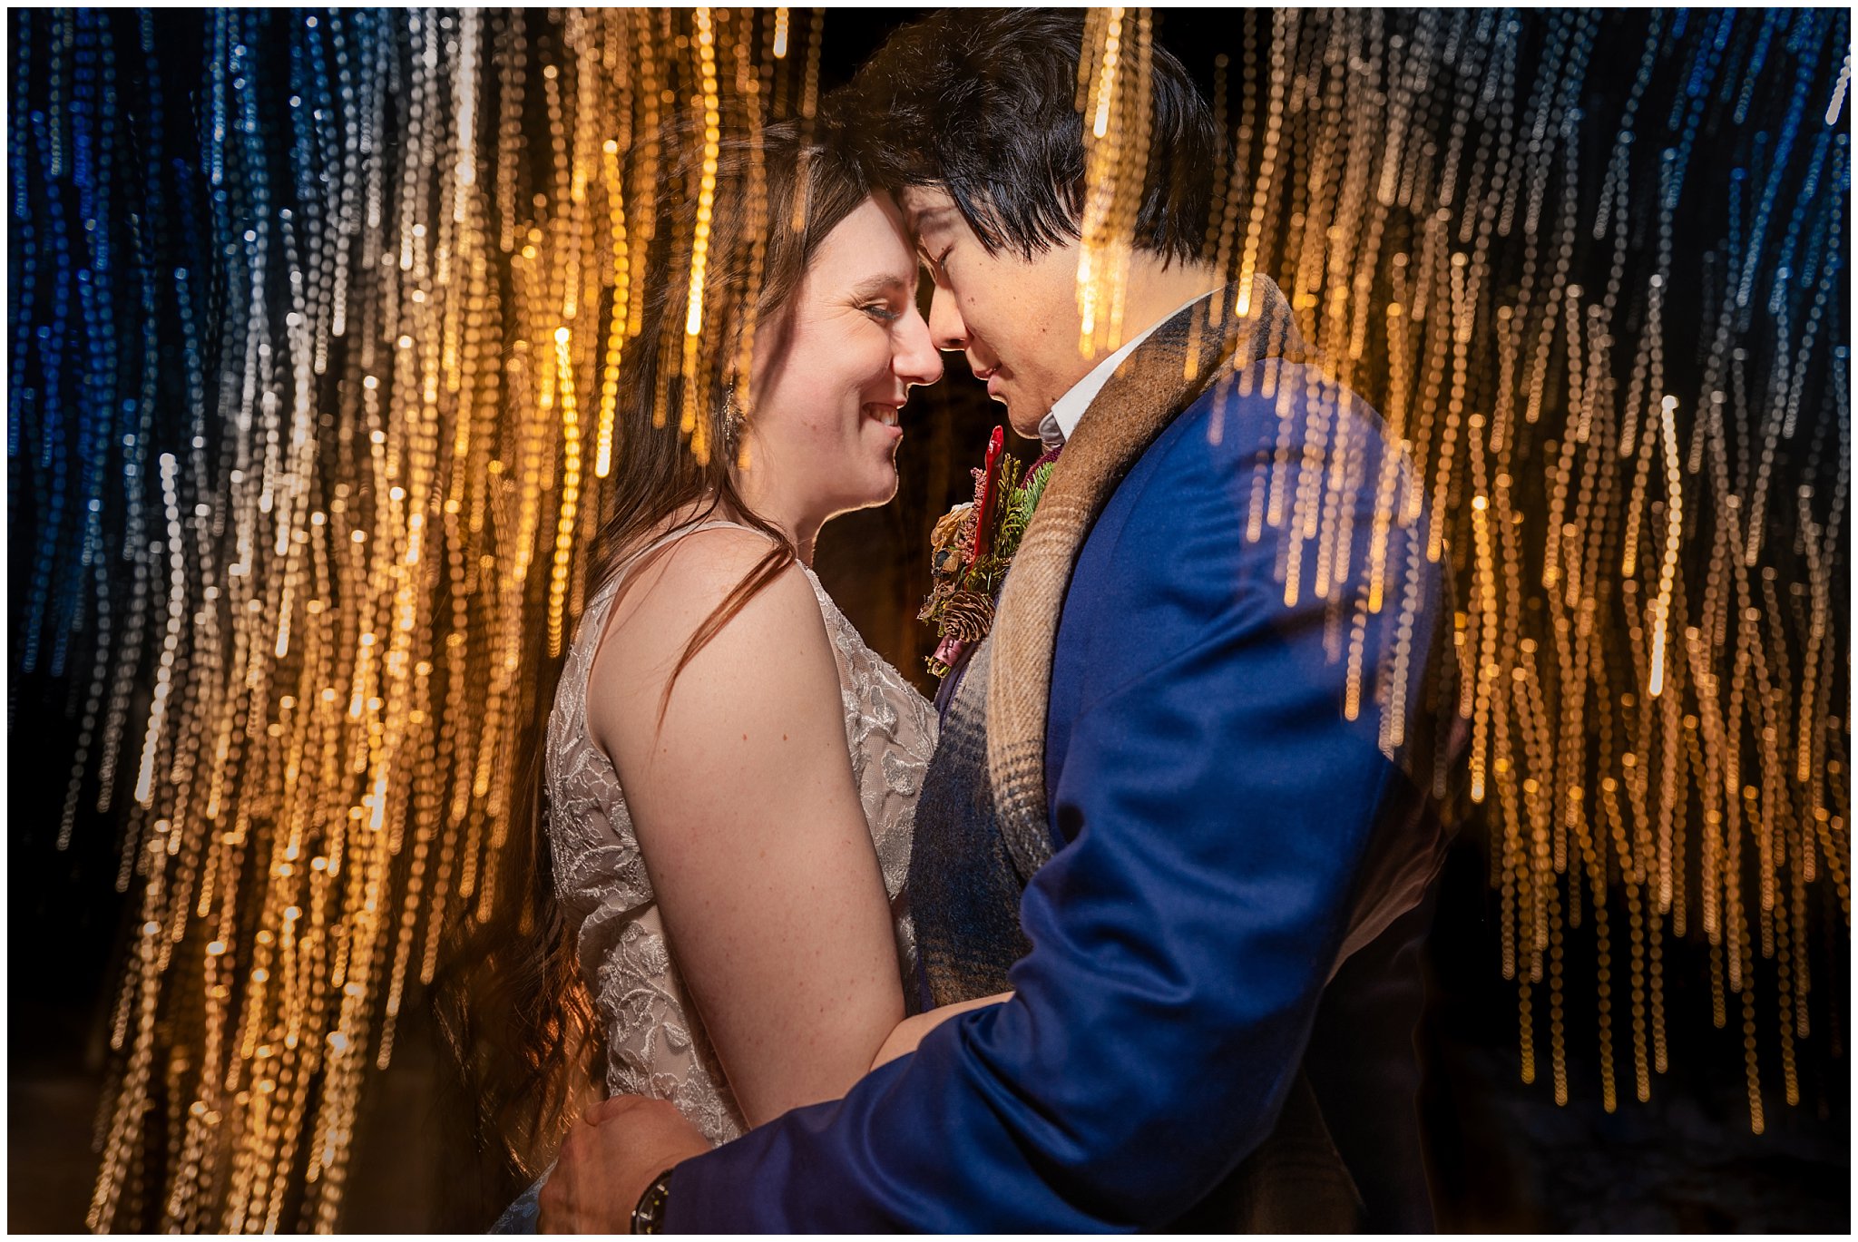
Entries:
{"label": "dark-haired man in blue jacket and brown scarf embracing the woman", "polygon": [[1412,465],[1275,284],[1202,260],[1221,136],[1159,48],[1128,344],[1079,355],[1079,45],[1078,11],[944,13],[853,87],[936,344],[1063,446],[910,870],[925,1004],[1014,997],[715,1151],[596,1104],[544,1229],[1431,1225],[1412,950],[1451,625],[1425,515],[1382,511]]}

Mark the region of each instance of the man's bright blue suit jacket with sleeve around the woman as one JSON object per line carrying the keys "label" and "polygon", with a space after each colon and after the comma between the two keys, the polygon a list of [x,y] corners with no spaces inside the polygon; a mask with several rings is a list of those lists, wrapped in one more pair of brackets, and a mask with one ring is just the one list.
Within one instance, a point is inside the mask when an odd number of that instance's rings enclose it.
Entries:
{"label": "man's bright blue suit jacket with sleeve around the woman", "polygon": [[[842,1101],[678,1166],[669,1229],[1158,1227],[1271,1132],[1319,1008],[1341,1011],[1332,1058],[1405,1073],[1410,1023],[1405,1060],[1401,1039],[1351,1043],[1336,965],[1369,855],[1438,831],[1425,773],[1382,753],[1375,710],[1343,716],[1349,610],[1310,589],[1315,547],[1288,606],[1282,532],[1247,537],[1282,461],[1356,456],[1332,509],[1358,530],[1354,599],[1388,448],[1353,396],[1312,409],[1302,366],[1265,361],[1254,379],[1158,437],[1078,560],[1046,723],[1055,855],[1020,904],[1014,998],[944,1023]],[[1392,534],[1390,601],[1362,636],[1371,699],[1408,580],[1410,712],[1442,612],[1423,539],[1423,522]],[[1414,714],[1408,731],[1427,727]],[[1315,1065],[1312,1080],[1321,1097]]]}

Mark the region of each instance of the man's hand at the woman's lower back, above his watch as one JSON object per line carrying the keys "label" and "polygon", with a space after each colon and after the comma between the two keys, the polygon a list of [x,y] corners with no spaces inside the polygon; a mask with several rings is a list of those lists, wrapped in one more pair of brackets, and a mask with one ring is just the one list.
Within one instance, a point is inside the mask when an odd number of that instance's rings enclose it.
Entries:
{"label": "man's hand at the woman's lower back, above his watch", "polygon": [[632,1210],[652,1179],[706,1151],[697,1127],[665,1101],[604,1099],[561,1143],[543,1186],[539,1233],[632,1233]]}

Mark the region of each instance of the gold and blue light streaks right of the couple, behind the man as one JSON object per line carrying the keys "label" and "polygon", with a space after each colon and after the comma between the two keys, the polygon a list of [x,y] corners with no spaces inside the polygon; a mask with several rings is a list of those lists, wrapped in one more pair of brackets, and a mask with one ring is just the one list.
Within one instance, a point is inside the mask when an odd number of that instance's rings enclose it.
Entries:
{"label": "gold and blue light streaks right of the couple, behind the man", "polygon": [[[1120,257],[1161,158],[1152,39],[1145,9],[1085,24],[1085,348],[1119,335]],[[1401,496],[1317,443],[1321,469],[1249,498],[1249,534],[1282,535],[1286,602],[1328,602],[1354,712],[1377,695],[1358,684],[1364,619],[1407,608],[1388,521],[1421,502],[1442,519],[1425,552],[1457,571],[1468,796],[1520,1071],[1546,1064],[1557,1103],[1568,1039],[1596,1041],[1609,1112],[1622,1080],[1650,1099],[1668,937],[1708,943],[1709,1019],[1743,1034],[1756,1132],[1763,1060],[1800,1101],[1810,941],[1841,985],[1847,46],[1845,11],[1278,11],[1215,61],[1236,151],[1204,257],[1241,316],[1252,275],[1276,279],[1420,480]],[[1380,489],[1373,530],[1336,521],[1360,487]],[[1325,571],[1351,558],[1354,599]],[[1579,1032],[1576,935],[1598,1019]],[[1834,993],[1819,1011],[1832,1056],[1841,1010]]]}

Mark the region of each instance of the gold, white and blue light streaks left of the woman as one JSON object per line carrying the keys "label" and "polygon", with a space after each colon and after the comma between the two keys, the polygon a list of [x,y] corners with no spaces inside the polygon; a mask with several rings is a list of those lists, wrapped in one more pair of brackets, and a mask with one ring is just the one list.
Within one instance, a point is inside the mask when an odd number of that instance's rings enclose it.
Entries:
{"label": "gold, white and blue light streaks left of the woman", "polygon": [[[723,119],[752,139],[767,89],[810,113],[819,28],[758,71],[777,32],[752,11],[214,13],[195,156],[167,145],[147,15],[126,41],[91,11],[22,26],[22,54],[52,54],[19,78],[11,154],[9,348],[39,381],[9,392],[9,446],[43,465],[46,534],[20,654],[63,677],[91,643],[59,844],[87,779],[98,811],[130,792],[119,887],[143,928],[93,1227],[338,1225],[414,976],[504,900],[509,768],[613,498],[589,482],[622,355],[674,342],[691,402],[739,363],[700,273],[667,342],[635,342],[645,247],[710,245],[676,214],[686,236],[654,238],[658,203],[687,193],[702,234],[725,192],[765,219],[760,173],[719,184]],[[279,37],[273,82],[256,48]],[[684,108],[706,177],[661,186],[658,126]],[[223,264],[219,344],[197,270],[152,268],[167,253]]]}

